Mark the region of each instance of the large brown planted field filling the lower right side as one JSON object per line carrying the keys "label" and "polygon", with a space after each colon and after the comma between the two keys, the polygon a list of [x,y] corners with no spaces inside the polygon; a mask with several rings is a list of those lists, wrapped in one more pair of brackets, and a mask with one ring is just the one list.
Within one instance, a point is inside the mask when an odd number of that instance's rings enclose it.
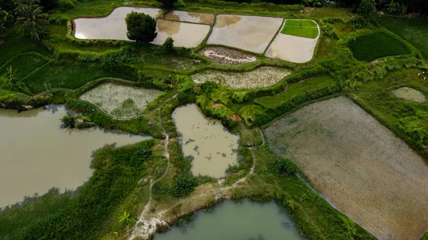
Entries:
{"label": "large brown planted field filling the lower right side", "polygon": [[307,105],[265,132],[275,154],[378,239],[416,240],[428,229],[426,162],[352,100]]}

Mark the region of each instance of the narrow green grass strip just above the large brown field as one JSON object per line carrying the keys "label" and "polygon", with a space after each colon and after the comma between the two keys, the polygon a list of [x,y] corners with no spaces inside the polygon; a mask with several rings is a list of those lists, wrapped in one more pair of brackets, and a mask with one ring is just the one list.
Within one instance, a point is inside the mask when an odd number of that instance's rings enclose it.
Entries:
{"label": "narrow green grass strip just above the large brown field", "polygon": [[255,100],[258,101],[258,103],[260,103],[260,105],[262,105],[264,108],[277,108],[282,103],[294,98],[295,95],[311,90],[325,88],[330,85],[335,85],[335,80],[327,75],[324,75],[316,78],[309,78],[300,83],[290,83],[287,87],[287,90],[280,94],[269,97],[256,98]]}

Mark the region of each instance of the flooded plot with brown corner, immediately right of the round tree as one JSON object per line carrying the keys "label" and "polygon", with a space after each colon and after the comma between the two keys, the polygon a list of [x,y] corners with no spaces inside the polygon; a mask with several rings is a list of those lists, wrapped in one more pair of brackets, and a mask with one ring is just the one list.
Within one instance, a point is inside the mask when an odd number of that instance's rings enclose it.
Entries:
{"label": "flooded plot with brown corner, immediately right of the round tree", "polygon": [[193,48],[203,41],[209,31],[208,25],[158,19],[156,26],[158,36],[152,43],[161,45],[166,38],[171,37],[174,40],[174,46]]}

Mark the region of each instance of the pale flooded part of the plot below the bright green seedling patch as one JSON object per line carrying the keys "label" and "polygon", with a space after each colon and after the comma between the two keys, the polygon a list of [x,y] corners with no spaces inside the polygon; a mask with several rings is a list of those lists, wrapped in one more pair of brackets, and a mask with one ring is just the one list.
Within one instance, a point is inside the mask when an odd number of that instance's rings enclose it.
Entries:
{"label": "pale flooded part of the plot below the bright green seedling patch", "polygon": [[[284,24],[286,22],[287,20],[285,20]],[[315,39],[278,33],[269,48],[267,48],[265,56],[293,63],[305,63],[312,59],[318,38],[320,38],[319,26],[318,36]]]}

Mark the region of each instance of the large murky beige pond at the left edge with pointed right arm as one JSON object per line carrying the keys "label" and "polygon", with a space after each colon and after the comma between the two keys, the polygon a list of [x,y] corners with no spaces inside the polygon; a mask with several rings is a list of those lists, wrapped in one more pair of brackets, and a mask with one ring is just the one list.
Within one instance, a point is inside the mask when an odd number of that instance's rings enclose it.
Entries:
{"label": "large murky beige pond at the left edge with pointed right arm", "polygon": [[92,174],[91,152],[116,142],[126,145],[150,137],[118,135],[99,129],[67,130],[63,107],[17,113],[0,109],[0,207],[51,187],[76,189]]}

